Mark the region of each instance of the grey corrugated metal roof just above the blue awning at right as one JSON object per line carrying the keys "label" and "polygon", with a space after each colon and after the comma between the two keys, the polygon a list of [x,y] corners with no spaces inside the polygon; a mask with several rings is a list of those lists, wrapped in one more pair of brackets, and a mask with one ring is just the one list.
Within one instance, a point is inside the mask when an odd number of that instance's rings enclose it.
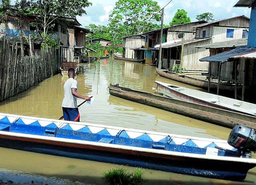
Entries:
{"label": "grey corrugated metal roof just above the blue awning at right", "polygon": [[224,42],[216,42],[211,44],[205,44],[201,46],[195,46],[197,48],[224,48],[224,47],[240,47],[240,46],[247,46],[247,38],[244,39],[235,39],[231,41],[224,41]]}

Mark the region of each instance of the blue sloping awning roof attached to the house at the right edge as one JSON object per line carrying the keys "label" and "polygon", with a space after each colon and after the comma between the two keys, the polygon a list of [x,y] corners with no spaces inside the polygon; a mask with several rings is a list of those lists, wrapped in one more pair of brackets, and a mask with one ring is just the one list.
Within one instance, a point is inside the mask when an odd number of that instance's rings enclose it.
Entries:
{"label": "blue sloping awning roof attached to the house at the right edge", "polygon": [[254,47],[237,47],[230,51],[226,51],[223,53],[218,53],[216,55],[212,55],[209,57],[204,57],[199,61],[206,61],[206,62],[230,62],[233,60],[234,56],[244,55],[246,53],[255,52],[256,48]]}

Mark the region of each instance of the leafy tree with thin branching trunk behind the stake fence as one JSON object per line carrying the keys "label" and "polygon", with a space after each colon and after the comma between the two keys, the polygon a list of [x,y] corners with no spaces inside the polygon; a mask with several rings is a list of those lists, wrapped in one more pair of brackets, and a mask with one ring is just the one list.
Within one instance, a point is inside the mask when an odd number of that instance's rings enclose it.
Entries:
{"label": "leafy tree with thin branching trunk behind the stake fence", "polygon": [[42,38],[42,46],[51,46],[53,41],[48,32],[54,27],[54,22],[65,21],[65,17],[75,18],[86,14],[86,7],[92,5],[87,0],[16,0],[16,7],[24,15],[36,16],[37,31]]}

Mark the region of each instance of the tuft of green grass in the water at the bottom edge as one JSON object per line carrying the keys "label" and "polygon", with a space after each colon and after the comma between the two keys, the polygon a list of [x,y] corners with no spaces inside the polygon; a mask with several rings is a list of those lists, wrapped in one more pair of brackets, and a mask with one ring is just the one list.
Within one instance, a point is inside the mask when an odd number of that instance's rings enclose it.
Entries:
{"label": "tuft of green grass in the water at the bottom edge", "polygon": [[141,175],[141,168],[135,168],[134,173],[130,173],[123,166],[104,172],[106,181],[111,185],[136,185],[141,182]]}

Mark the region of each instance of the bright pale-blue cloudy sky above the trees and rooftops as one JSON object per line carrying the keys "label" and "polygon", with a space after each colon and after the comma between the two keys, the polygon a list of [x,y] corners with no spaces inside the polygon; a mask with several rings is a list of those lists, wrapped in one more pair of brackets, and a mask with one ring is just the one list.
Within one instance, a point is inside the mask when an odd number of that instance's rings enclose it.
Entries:
{"label": "bright pale-blue cloudy sky above the trees and rooftops", "polygon": [[[158,5],[163,8],[170,0],[155,0]],[[239,0],[172,0],[164,8],[164,23],[169,25],[172,21],[177,9],[184,9],[187,11],[187,16],[190,17],[191,22],[197,21],[196,16],[205,12],[213,13],[214,19],[224,19],[238,15],[245,15],[250,17],[249,8],[235,8],[233,7]],[[86,8],[86,13],[76,19],[82,25],[89,24],[104,25],[108,24],[109,15],[115,8],[117,0],[89,0],[93,5]],[[160,22],[157,24],[161,24]]]}

